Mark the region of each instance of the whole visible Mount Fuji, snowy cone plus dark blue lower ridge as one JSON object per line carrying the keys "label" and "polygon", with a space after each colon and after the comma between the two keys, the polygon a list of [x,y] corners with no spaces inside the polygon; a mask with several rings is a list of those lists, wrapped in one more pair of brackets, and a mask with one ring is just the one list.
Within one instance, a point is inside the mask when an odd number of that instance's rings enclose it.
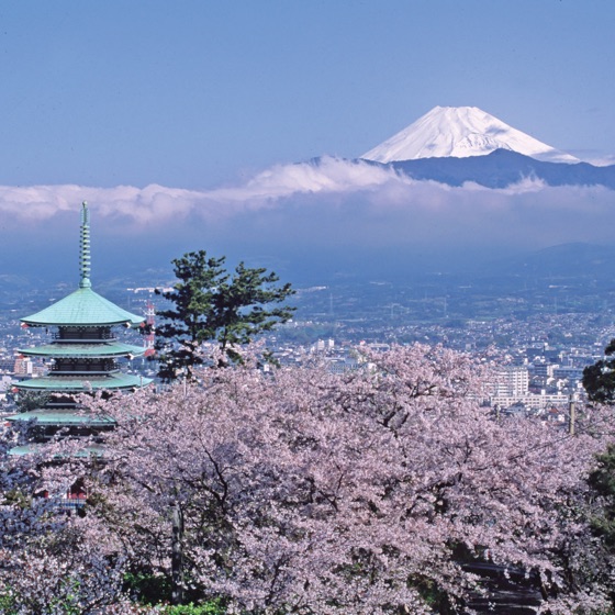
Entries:
{"label": "whole visible Mount Fuji, snowy cone plus dark blue lower ridge", "polygon": [[582,163],[476,107],[436,107],[359,159],[448,186],[506,188],[529,178],[615,189],[615,165]]}

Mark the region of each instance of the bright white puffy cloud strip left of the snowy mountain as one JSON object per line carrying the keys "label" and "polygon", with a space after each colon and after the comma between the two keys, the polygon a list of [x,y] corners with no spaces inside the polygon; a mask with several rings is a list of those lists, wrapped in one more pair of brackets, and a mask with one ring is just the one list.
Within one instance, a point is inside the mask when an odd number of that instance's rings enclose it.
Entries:
{"label": "bright white puffy cloud strip left of the snowy mountain", "polygon": [[246,211],[276,206],[280,199],[295,193],[348,193],[376,189],[387,182],[409,183],[407,178],[365,163],[324,158],[280,165],[255,176],[244,186],[209,191],[183,190],[150,185],[145,188],[118,186],[92,188],[64,186],[0,186],[0,212],[29,222],[77,211],[87,200],[102,217],[126,217],[135,223],[165,224],[190,213],[216,220]]}

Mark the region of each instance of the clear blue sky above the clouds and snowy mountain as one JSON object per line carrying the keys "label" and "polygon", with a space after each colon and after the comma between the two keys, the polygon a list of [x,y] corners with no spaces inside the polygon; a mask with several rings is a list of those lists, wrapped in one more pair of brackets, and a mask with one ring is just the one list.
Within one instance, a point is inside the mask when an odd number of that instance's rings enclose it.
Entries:
{"label": "clear blue sky above the clouds and snowy mountain", "polygon": [[0,182],[211,188],[476,105],[615,154],[615,3],[4,3]]}

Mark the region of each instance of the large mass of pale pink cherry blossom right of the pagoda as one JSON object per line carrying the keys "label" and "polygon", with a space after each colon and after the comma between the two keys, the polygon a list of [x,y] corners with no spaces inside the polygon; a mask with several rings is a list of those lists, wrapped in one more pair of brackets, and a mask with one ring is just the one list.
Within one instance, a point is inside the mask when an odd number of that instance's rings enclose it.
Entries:
{"label": "large mass of pale pink cherry blossom right of the pagoda", "polygon": [[364,361],[346,374],[246,361],[94,401],[118,426],[88,476],[89,518],[128,568],[230,613],[455,612],[480,591],[471,559],[532,571],[551,613],[604,607],[583,502],[608,413],[571,437],[493,416],[465,355]]}

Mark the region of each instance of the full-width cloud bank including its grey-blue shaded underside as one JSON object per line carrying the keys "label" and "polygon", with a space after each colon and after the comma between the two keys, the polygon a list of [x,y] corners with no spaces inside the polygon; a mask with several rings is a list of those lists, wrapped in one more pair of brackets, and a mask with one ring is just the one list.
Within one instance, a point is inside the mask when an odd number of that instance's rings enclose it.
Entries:
{"label": "full-width cloud bank including its grey-blue shaded underside", "polygon": [[360,160],[323,158],[279,165],[243,185],[205,191],[4,186],[0,233],[10,245],[42,233],[66,237],[66,225],[78,225],[83,200],[104,241],[130,238],[135,249],[167,246],[176,255],[213,245],[241,256],[381,250],[403,258],[411,249],[612,243],[615,226],[615,192],[602,187],[554,188],[525,179],[505,189],[454,188]]}

